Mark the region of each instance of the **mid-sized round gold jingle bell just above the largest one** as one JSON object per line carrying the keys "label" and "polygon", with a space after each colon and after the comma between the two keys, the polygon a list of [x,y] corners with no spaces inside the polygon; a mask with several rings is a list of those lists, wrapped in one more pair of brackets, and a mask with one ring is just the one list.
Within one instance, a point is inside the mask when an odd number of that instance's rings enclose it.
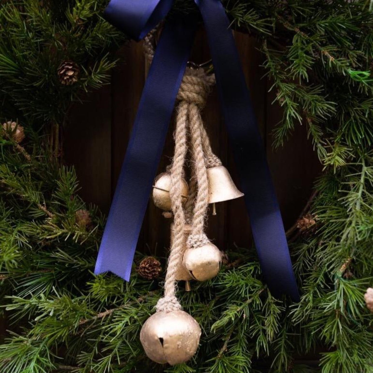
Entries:
{"label": "mid-sized round gold jingle bell just above the largest one", "polygon": [[185,250],[183,265],[192,278],[206,281],[217,275],[222,256],[219,249],[211,242],[196,248]]}

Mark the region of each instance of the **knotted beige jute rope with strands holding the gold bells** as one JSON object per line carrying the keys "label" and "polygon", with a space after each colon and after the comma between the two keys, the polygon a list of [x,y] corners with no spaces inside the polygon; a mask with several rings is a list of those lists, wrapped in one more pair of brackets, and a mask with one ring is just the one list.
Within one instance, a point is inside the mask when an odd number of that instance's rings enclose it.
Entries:
{"label": "knotted beige jute rope with strands holding the gold bells", "polygon": [[[149,62],[154,55],[153,39],[154,32],[145,37],[144,40],[145,56]],[[174,216],[173,239],[164,282],[164,297],[158,301],[157,311],[171,312],[181,309],[175,295],[176,273],[182,261],[186,222],[192,225],[191,234],[187,241],[189,248],[200,247],[210,242],[204,233],[204,222],[209,203],[207,167],[220,165],[221,162],[211,150],[200,110],[206,103],[207,94],[214,82],[214,75],[207,75],[203,69],[186,68],[177,95],[179,104],[174,132],[175,154],[172,164],[167,167],[171,173],[170,199]],[[189,195],[184,210],[182,178],[188,151],[188,139],[192,160],[192,178],[189,183]]]}

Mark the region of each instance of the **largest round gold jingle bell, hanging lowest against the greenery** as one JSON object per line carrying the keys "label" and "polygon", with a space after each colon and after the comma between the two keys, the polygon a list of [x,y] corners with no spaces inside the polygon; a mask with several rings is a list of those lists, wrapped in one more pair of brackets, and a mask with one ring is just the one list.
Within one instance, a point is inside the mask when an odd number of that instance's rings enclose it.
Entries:
{"label": "largest round gold jingle bell, hanging lowest against the greenery", "polygon": [[201,328],[188,313],[157,312],[141,328],[140,341],[148,358],[170,365],[188,361],[197,351]]}

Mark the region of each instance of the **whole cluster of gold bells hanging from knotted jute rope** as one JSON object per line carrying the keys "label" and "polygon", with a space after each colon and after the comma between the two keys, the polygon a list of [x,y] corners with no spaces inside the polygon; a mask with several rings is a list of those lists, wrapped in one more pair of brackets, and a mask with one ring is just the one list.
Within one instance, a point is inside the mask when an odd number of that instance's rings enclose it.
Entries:
{"label": "whole cluster of gold bells hanging from knotted jute rope", "polygon": [[[154,204],[166,211],[163,215],[174,217],[164,297],[140,332],[146,355],[157,363],[171,365],[188,361],[197,351],[201,336],[198,322],[181,310],[175,295],[176,280],[186,281],[189,290],[189,280],[206,281],[220,270],[220,250],[204,232],[208,204],[213,204],[215,215],[215,203],[243,196],[213,154],[198,112],[214,79],[203,69],[186,69],[185,75],[188,79],[183,78],[178,94],[173,162],[167,172],[156,177],[152,193]],[[196,97],[200,99],[198,102]],[[184,179],[188,155],[193,163],[190,170],[193,179],[189,184]]]}

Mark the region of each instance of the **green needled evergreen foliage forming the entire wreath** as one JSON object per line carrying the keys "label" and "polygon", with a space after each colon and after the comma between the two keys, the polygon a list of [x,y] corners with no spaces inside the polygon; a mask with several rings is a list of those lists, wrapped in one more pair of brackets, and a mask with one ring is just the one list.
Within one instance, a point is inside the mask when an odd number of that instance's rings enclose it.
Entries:
{"label": "green needled evergreen foliage forming the entire wreath", "polygon": [[[233,27],[260,40],[284,113],[275,143],[304,124],[323,164],[310,210],[316,232],[292,240],[299,304],[272,297],[253,248],[232,248],[219,275],[192,291],[180,286],[203,333],[195,357],[173,367],[151,362],[139,340],[163,278],[92,274],[104,218],[79,198],[55,144],[70,103],[107,82],[124,40],[101,18],[105,4],[1,3],[0,114],[18,118],[26,140],[1,128],[0,304],[10,331],[0,373],[372,373],[363,298],[373,283],[371,2],[223,1]],[[196,7],[177,0],[175,12]],[[66,60],[80,69],[71,86],[57,76]],[[90,222],[79,221],[82,209]]]}

